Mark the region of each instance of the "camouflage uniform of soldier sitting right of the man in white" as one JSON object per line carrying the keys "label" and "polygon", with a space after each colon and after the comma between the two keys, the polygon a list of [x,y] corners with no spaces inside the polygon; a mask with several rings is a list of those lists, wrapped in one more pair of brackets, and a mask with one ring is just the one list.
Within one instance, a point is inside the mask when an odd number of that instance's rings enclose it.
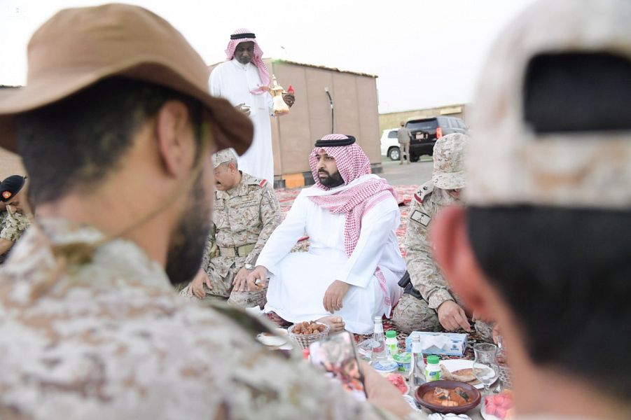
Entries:
{"label": "camouflage uniform of soldier sitting right of the man in white", "polygon": [[[394,308],[392,321],[403,332],[443,330],[436,310],[445,300],[460,304],[434,262],[428,233],[431,219],[441,208],[458,204],[462,202],[445,190],[435,188],[431,181],[424,183],[414,195],[405,232],[405,259],[412,285],[423,299],[405,294]],[[492,328],[488,324],[476,321],[476,330],[485,340],[492,341]]]}

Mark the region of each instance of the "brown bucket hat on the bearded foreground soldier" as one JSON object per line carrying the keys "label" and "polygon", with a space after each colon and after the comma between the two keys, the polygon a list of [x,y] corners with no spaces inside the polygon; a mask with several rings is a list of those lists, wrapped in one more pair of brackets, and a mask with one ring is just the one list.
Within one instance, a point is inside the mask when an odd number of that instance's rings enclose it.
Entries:
{"label": "brown bucket hat on the bearded foreground soldier", "polygon": [[28,46],[25,87],[0,90],[0,146],[16,151],[15,116],[53,104],[99,80],[120,76],[170,87],[208,111],[216,148],[244,153],[254,127],[249,118],[208,90],[202,57],[169,22],[125,4],[62,10]]}

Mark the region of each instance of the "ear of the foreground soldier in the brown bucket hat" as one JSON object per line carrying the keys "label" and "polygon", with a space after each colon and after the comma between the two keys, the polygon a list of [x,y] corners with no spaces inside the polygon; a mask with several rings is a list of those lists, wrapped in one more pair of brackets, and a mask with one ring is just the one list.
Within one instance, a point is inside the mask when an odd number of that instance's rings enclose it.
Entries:
{"label": "ear of the foreground soldier in the brown bucket hat", "polygon": [[190,170],[195,155],[195,142],[190,136],[192,128],[188,121],[186,105],[175,100],[165,102],[155,118],[158,153],[165,171],[171,176]]}

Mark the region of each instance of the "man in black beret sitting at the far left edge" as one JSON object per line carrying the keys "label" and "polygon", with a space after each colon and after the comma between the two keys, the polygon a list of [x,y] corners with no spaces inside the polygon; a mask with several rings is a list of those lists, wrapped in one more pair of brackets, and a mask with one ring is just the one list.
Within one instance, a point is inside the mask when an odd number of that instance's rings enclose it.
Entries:
{"label": "man in black beret sitting at the far left edge", "polygon": [[0,264],[31,223],[26,216],[26,176],[11,175],[0,183],[0,200],[6,210],[0,212]]}

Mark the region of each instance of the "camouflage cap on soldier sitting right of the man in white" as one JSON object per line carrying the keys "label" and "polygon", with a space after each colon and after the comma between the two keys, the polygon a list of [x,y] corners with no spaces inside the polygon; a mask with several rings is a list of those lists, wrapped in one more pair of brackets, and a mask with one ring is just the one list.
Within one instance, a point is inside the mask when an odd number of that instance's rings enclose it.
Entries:
{"label": "camouflage cap on soldier sitting right of the man in white", "polygon": [[431,181],[443,190],[464,188],[464,148],[469,143],[466,134],[453,133],[434,144],[434,173]]}

